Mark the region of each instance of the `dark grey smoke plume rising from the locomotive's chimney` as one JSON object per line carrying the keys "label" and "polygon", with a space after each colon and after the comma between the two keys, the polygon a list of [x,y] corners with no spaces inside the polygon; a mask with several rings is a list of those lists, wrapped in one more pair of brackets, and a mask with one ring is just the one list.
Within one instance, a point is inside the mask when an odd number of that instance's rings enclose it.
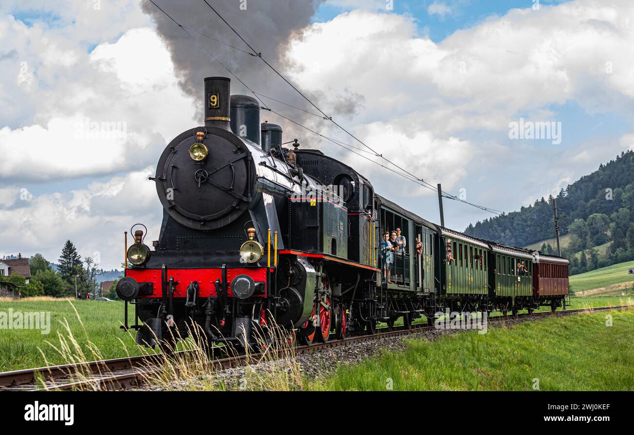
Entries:
{"label": "dark grey smoke plume rising from the locomotive's chimney", "polygon": [[[143,1],[143,10],[152,16],[157,24],[159,34],[169,48],[181,88],[186,94],[196,98],[198,103],[203,98],[204,77],[213,75],[230,77],[232,94],[253,96],[223,66],[211,60],[209,54],[205,52],[207,49],[253,91],[310,110],[313,113],[319,113],[260,59],[226,45],[230,44],[250,51],[249,47],[233,33],[231,28],[222,22],[203,0],[154,1],[174,20],[183,25],[198,41],[192,41],[181,28],[150,1]],[[285,71],[292,66],[288,65],[286,58],[290,40],[299,37],[301,30],[310,24],[316,7],[325,0],[207,1],[257,52],[262,53],[262,57],[282,74],[285,74]],[[244,4],[246,4],[246,10],[241,9]],[[216,40],[222,41],[224,44]],[[304,91],[302,90],[302,92]],[[304,94],[321,107],[320,98],[325,95],[325,92],[313,94],[304,92]],[[327,133],[331,127],[320,118],[263,97],[261,99],[273,110],[320,132]],[[329,99],[330,106],[327,106],[325,102],[321,108],[330,116],[353,115],[358,110],[359,101],[362,100],[360,96],[351,92],[341,96],[329,96]],[[333,99],[335,101],[332,101]],[[201,107],[200,104],[196,106],[198,118],[202,118]],[[261,119],[262,121],[280,123],[287,140],[299,137],[304,138],[304,143],[316,144],[319,142],[318,138],[310,132],[292,125],[269,111],[262,111]]]}

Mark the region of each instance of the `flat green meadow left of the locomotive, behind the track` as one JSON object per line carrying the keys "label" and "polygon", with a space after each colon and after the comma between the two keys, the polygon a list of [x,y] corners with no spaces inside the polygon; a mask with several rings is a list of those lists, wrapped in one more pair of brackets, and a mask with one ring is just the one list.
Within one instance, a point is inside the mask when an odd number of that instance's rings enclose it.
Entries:
{"label": "flat green meadow left of the locomotive, behind the track", "polygon": [[[71,305],[72,303],[72,305]],[[83,326],[77,318],[77,309]],[[141,350],[119,325],[124,320],[124,305],[122,302],[98,301],[68,301],[63,299],[18,301],[0,300],[0,312],[50,312],[51,330],[49,334],[42,334],[35,329],[1,329],[0,330],[0,371],[28,369],[67,363],[50,344],[60,346],[58,334],[67,337],[68,333],[63,322],[68,321],[70,331],[77,343],[87,349],[89,341],[100,351],[103,358],[119,358],[127,355],[141,355]],[[134,322],[134,308],[129,310],[129,323]],[[118,339],[120,338],[124,344]],[[42,356],[42,352],[46,359]],[[86,351],[86,360],[94,360],[95,353]],[[48,360],[48,362],[46,361]]]}

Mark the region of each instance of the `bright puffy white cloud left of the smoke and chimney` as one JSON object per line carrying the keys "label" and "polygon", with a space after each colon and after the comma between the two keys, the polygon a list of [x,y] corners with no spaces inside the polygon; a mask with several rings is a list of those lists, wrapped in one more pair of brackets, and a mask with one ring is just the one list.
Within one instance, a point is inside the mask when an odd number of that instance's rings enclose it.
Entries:
{"label": "bright puffy white cloud left of the smoke and chimney", "polygon": [[[42,56],[55,68],[50,54]],[[65,70],[64,62],[58,64]],[[100,44],[82,56],[81,69],[72,83],[62,76],[53,88],[36,86],[39,123],[0,129],[0,179],[133,170],[155,162],[165,141],[194,123],[192,101],[180,91],[169,53],[150,28]]]}

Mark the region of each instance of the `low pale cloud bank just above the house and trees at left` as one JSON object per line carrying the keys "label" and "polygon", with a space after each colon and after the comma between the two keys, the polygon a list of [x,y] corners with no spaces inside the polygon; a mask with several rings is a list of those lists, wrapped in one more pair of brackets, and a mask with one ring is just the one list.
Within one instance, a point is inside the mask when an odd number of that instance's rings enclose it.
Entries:
{"label": "low pale cloud bank just above the house and trees at left", "polygon": [[20,189],[0,189],[0,254],[40,252],[55,262],[70,239],[82,256],[100,253],[101,266],[119,267],[123,232],[134,222],[148,225],[148,237],[160,230],[160,205],[148,176],[154,168],[130,172],[86,189],[20,198]]}

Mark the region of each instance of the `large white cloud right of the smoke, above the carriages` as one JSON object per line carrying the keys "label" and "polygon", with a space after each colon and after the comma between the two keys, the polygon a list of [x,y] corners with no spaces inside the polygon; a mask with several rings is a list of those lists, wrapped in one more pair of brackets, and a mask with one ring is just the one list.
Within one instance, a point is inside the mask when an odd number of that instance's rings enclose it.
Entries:
{"label": "large white cloud right of the smoke, above the carriages", "polygon": [[[525,197],[541,196],[545,184],[559,189],[576,179],[572,175],[584,173],[571,162],[565,174],[537,172],[540,182],[522,184],[520,195],[514,189],[508,195],[500,192],[508,186],[496,187],[495,180],[503,176],[498,171],[508,167],[515,173],[529,172],[538,161],[560,161],[566,149],[576,145],[567,139],[572,135],[566,132],[574,129],[571,121],[564,122],[562,146],[550,149],[510,141],[510,121],[560,121],[554,108],[568,101],[588,113],[616,111],[631,118],[634,58],[626,55],[634,44],[631,23],[634,9],[629,1],[579,0],[539,11],[512,9],[436,43],[420,37],[410,16],[359,10],[314,23],[292,43],[289,58],[295,61],[295,82],[302,89],[323,92],[325,101],[343,92],[364,97],[358,115],[346,122],[363,141],[375,143],[378,137],[385,141],[385,156],[448,188],[468,183],[469,177],[474,182],[484,172],[485,179],[478,180],[483,187],[470,191],[478,191],[478,198],[495,191],[491,206],[508,210],[519,207]],[[610,73],[605,69],[608,61]],[[319,68],[312,68],[315,64]],[[377,122],[392,125],[397,138],[408,140],[382,136],[373,129]],[[421,138],[430,145],[417,147]],[[604,147],[593,158],[598,162],[613,156]],[[377,167],[375,173],[385,172]],[[382,182],[378,187],[391,188]],[[477,202],[475,196],[470,198]]]}

